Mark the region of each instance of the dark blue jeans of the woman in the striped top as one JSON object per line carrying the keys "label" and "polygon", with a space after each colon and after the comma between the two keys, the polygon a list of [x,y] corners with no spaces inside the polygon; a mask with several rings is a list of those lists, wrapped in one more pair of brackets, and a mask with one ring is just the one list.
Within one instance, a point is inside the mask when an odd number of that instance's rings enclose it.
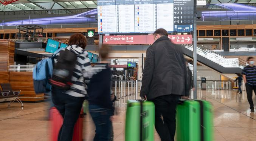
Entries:
{"label": "dark blue jeans of the woman in the striped top", "polygon": [[81,112],[84,97],[73,97],[62,89],[52,88],[54,106],[63,117],[63,125],[59,131],[58,141],[72,141],[74,125]]}

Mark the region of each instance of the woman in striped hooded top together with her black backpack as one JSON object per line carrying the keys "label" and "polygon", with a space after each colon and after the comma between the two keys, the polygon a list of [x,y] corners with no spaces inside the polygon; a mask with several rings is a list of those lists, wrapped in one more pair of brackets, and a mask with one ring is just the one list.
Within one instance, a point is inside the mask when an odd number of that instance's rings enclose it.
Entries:
{"label": "woman in striped hooded top together with her black backpack", "polygon": [[[80,33],[73,34],[65,51],[59,52],[54,59],[54,73],[53,78],[50,80],[53,86],[51,91],[52,100],[64,119],[59,131],[58,141],[72,141],[74,125],[78,120],[82,103],[87,95],[85,88],[89,78],[92,77],[89,73],[92,66],[90,59],[87,57],[88,53],[84,50],[86,45],[87,40],[84,35]],[[65,56],[65,54],[69,54],[73,58]],[[74,67],[67,64],[70,60],[74,60],[71,61]],[[65,69],[61,69],[61,67]],[[71,81],[68,78],[67,80],[58,81],[58,78],[66,78],[60,77],[61,75],[71,75]]]}

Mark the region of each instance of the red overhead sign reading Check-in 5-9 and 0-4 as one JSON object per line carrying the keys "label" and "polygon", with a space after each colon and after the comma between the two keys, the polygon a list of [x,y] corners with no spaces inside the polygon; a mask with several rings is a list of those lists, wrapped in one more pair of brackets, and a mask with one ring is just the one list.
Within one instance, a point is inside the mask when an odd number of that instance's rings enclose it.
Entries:
{"label": "red overhead sign reading Check-in 5-9 and 0-4", "polygon": [[[192,44],[192,35],[168,35],[172,43]],[[116,35],[104,36],[104,44],[153,44],[153,35]]]}

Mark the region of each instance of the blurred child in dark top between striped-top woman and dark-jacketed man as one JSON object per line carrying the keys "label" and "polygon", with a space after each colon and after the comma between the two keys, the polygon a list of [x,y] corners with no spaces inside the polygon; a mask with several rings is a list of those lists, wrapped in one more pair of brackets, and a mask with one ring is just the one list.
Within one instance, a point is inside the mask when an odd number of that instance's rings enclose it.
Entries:
{"label": "blurred child in dark top between striped-top woman and dark-jacketed man", "polygon": [[109,141],[111,137],[111,116],[113,103],[111,94],[111,71],[109,67],[109,48],[105,45],[99,50],[101,61],[92,68],[93,77],[88,84],[89,111],[95,124],[93,141]]}

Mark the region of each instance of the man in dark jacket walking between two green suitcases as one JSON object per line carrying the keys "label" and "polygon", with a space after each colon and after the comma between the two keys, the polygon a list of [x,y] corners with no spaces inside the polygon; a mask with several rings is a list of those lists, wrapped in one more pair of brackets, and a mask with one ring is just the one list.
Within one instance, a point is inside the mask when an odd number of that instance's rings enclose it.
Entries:
{"label": "man in dark jacket walking between two green suitcases", "polygon": [[140,96],[155,104],[155,128],[161,141],[174,141],[176,106],[182,95],[188,96],[188,74],[182,47],[171,43],[167,31],[157,29],[154,39],[146,52]]}

